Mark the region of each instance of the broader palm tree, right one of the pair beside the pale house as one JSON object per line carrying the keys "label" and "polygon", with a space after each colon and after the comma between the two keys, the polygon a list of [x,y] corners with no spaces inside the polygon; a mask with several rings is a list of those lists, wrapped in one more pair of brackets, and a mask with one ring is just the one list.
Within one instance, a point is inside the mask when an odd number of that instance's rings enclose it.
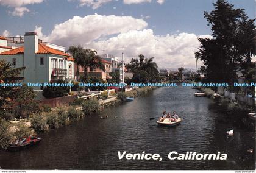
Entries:
{"label": "broader palm tree, right one of the pair beside the pale house", "polygon": [[85,80],[87,79],[87,69],[90,67],[99,68],[105,72],[105,66],[101,61],[101,57],[97,55],[97,51],[93,51],[91,49],[84,49],[82,55],[82,67],[84,68]]}

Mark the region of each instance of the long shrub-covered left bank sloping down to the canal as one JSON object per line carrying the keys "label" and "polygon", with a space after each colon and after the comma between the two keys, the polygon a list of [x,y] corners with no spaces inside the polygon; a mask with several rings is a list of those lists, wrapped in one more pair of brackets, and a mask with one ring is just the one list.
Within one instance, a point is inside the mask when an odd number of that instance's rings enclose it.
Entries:
{"label": "long shrub-covered left bank sloping down to the canal", "polygon": [[[3,129],[1,133],[2,140],[0,146],[6,149],[11,141],[24,138],[24,136],[36,136],[37,133],[47,132],[48,130],[57,129],[64,125],[71,124],[81,119],[84,115],[95,114],[107,107],[113,107],[126,101],[126,97],[142,96],[154,90],[154,87],[136,88],[126,93],[118,93],[117,96],[108,99],[96,99],[92,97],[90,100],[75,99],[69,107],[53,108],[39,115],[31,115],[27,119],[18,119],[18,121],[4,121],[0,119],[0,127]],[[107,116],[104,116],[107,118]]]}

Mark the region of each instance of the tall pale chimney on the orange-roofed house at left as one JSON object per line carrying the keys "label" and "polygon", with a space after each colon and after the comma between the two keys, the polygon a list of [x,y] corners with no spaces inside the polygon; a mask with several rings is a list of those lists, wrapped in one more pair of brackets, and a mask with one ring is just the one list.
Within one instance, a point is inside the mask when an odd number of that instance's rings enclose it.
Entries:
{"label": "tall pale chimney on the orange-roofed house at left", "polygon": [[[24,35],[24,82],[37,82],[35,79],[36,58],[35,53],[38,52],[38,36],[36,32],[26,32]],[[32,75],[34,74],[34,75]]]}

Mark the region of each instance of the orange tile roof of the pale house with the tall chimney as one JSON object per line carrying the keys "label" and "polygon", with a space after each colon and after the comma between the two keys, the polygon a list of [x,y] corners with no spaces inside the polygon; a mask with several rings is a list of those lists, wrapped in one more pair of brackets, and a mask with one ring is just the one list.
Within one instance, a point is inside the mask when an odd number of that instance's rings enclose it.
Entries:
{"label": "orange tile roof of the pale house with the tall chimney", "polygon": [[[0,55],[17,55],[17,54],[24,54],[24,46],[16,49],[12,49],[10,51],[2,52]],[[65,52],[59,51],[57,49],[50,48],[42,43],[38,43],[38,51],[36,54],[55,54],[55,55],[62,55],[66,57],[69,61],[74,61],[71,55],[66,54]]]}

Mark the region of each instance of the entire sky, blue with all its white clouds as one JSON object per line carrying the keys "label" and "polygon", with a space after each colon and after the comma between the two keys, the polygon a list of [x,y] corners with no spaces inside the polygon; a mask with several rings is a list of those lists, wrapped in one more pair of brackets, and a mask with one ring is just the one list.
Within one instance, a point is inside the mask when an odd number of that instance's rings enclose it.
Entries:
{"label": "entire sky, blue with all its white clouds", "polygon": [[[213,0],[0,0],[0,35],[36,31],[43,41],[82,45],[126,61],[154,57],[160,68],[194,68],[197,38],[210,38]],[[229,0],[255,18],[255,0]],[[202,63],[199,62],[199,66]]]}

